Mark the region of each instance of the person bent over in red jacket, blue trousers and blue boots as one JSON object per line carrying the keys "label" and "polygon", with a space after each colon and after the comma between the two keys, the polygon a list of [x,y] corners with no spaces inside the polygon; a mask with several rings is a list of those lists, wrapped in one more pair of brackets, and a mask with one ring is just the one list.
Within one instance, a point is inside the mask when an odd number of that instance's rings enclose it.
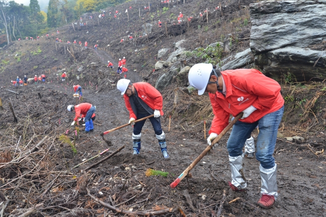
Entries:
{"label": "person bent over in red jacket, blue trousers and blue boots", "polygon": [[79,119],[80,115],[84,115],[84,122],[85,122],[85,132],[93,132],[94,126],[91,117],[93,116],[96,107],[90,103],[81,103],[79,105],[69,105],[67,107],[68,111],[75,111],[75,118],[74,121],[71,123],[71,126],[74,126],[76,121]]}

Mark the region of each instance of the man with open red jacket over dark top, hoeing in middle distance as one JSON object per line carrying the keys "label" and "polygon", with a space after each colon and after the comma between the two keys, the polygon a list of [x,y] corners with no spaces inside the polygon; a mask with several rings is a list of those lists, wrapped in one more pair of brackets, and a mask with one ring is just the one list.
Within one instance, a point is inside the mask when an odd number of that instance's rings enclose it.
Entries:
{"label": "man with open red jacket over dark top, hoeing in middle distance", "polygon": [[[137,119],[154,114],[149,120],[153,126],[158,144],[164,158],[169,158],[167,151],[166,135],[162,131],[159,117],[164,115],[162,111],[162,95],[153,86],[145,82],[131,83],[130,80],[120,79],[117,89],[123,95],[125,105],[129,111],[129,123]],[[141,148],[141,129],[146,120],[136,122],[133,127],[133,154],[139,154]]]}

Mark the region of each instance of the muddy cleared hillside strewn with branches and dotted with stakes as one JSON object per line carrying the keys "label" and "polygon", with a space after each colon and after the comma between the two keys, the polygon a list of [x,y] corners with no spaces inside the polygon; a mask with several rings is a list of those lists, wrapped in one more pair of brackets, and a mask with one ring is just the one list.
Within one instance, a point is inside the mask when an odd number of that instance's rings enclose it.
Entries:
{"label": "muddy cleared hillside strewn with branches and dotted with stakes", "polygon": [[[282,84],[286,111],[274,151],[280,196],[273,208],[264,210],[256,205],[260,179],[255,159],[245,158],[247,192],[230,189],[226,148],[230,132],[177,188],[169,186],[205,149],[204,134],[207,136],[213,119],[209,98],[189,94],[188,72],[178,73],[184,66],[205,61],[218,64],[224,60],[225,64],[248,49],[251,3],[254,1],[200,0],[169,5],[157,1],[150,2],[149,11],[144,10],[148,2],[132,1],[105,9],[104,19],[97,19],[99,13],[85,14],[84,26],[76,21],[52,30],[49,37],[44,35],[39,41],[23,40],[1,49],[0,98],[4,110],[0,111],[0,198],[5,204],[4,215],[21,216],[30,211],[30,216],[216,216],[220,211],[223,216],[323,216],[326,98],[324,83],[320,82]],[[218,6],[222,10],[215,10]],[[208,15],[204,13],[207,8]],[[116,10],[119,14],[114,18]],[[184,21],[178,24],[180,12]],[[187,17],[192,17],[190,22],[185,21]],[[56,43],[56,38],[62,42]],[[95,44],[99,45],[97,50]],[[213,48],[206,49],[211,44]],[[180,48],[183,53],[176,61],[157,68],[157,61],[167,61]],[[161,49],[167,49],[166,54],[158,57]],[[132,155],[131,126],[100,135],[129,120],[115,86],[123,77],[115,73],[118,59],[123,57],[127,60],[127,79],[160,88],[165,111],[161,124],[167,134],[170,160],[162,158],[149,121],[141,131],[140,155]],[[107,61],[113,63],[113,70],[106,67]],[[62,82],[64,72],[68,78]],[[47,76],[45,84],[12,86],[11,80],[17,76],[34,78],[43,73]],[[164,80],[164,75],[171,76]],[[83,88],[81,100],[72,96],[76,84]],[[67,106],[79,102],[96,106],[93,133],[85,134],[81,125],[70,125],[74,114]],[[256,140],[258,131],[252,135]],[[110,154],[109,159],[88,169]],[[146,176],[149,168],[169,174]],[[241,199],[229,203],[237,197]]]}

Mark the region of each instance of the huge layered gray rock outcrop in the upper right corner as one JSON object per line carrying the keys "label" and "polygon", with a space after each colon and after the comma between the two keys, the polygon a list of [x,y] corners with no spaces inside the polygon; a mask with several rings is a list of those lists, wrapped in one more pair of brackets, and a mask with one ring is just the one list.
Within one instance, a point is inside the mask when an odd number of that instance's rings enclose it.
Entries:
{"label": "huge layered gray rock outcrop in the upper right corner", "polygon": [[263,73],[280,78],[290,72],[298,81],[326,76],[320,49],[326,40],[326,1],[259,2],[250,5],[250,17],[250,48]]}

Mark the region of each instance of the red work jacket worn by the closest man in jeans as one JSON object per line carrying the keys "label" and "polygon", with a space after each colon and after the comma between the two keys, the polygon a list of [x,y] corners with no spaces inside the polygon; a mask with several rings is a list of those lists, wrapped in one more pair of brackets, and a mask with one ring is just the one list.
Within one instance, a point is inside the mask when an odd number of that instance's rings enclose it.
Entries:
{"label": "red work jacket worn by the closest man in jeans", "polygon": [[266,114],[279,110],[284,100],[280,85],[256,69],[222,71],[226,96],[220,92],[209,93],[214,118],[209,133],[220,134],[229,124],[230,114],[236,116],[249,106],[257,110],[241,122],[253,123]]}

